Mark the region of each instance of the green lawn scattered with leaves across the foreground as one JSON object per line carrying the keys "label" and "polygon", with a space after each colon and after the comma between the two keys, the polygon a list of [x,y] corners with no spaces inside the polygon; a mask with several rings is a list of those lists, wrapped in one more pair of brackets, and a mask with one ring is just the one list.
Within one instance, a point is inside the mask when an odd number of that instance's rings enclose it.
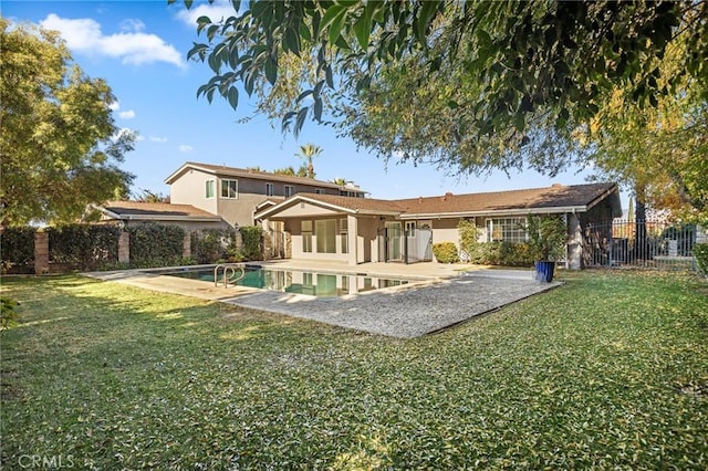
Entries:
{"label": "green lawn scattered with leaves across the foreground", "polygon": [[0,336],[2,468],[708,468],[708,284],[563,276],[413,341],[6,278],[21,324]]}

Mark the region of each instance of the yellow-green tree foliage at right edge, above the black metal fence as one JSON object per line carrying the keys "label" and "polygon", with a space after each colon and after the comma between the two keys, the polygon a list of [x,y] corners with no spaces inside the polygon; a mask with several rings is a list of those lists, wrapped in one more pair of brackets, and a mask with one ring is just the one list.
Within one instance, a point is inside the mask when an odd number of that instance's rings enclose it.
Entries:
{"label": "yellow-green tree foliage at right edge, above the black metal fence", "polygon": [[[664,76],[684,54],[680,43],[667,50]],[[600,175],[633,187],[637,209],[648,203],[708,221],[708,103],[697,88],[685,77],[679,93],[642,108],[628,87],[616,87],[590,124],[576,130]]]}

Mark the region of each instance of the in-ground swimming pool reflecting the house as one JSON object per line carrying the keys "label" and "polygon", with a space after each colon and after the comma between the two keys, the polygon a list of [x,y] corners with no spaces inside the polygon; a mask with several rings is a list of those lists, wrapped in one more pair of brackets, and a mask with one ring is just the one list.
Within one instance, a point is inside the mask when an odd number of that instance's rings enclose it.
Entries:
{"label": "in-ground swimming pool reflecting the house", "polygon": [[[237,273],[240,274],[240,270],[237,270]],[[199,266],[195,269],[186,268],[176,271],[160,272],[160,274],[214,283],[214,266]],[[221,271],[219,271],[218,279],[219,284],[221,285]],[[268,291],[309,294],[321,297],[335,297],[384,287],[399,286],[408,284],[410,280],[377,278],[364,274],[322,273],[288,269],[270,269],[261,265],[246,265],[244,276],[236,283],[230,284]]]}

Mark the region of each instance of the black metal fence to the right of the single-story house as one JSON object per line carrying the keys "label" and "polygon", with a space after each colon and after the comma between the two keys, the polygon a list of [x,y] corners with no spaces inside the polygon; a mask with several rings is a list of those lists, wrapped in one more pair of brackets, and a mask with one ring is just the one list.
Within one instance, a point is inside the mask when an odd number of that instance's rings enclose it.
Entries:
{"label": "black metal fence to the right of the single-story house", "polygon": [[665,221],[617,220],[584,228],[584,266],[696,270],[696,227]]}

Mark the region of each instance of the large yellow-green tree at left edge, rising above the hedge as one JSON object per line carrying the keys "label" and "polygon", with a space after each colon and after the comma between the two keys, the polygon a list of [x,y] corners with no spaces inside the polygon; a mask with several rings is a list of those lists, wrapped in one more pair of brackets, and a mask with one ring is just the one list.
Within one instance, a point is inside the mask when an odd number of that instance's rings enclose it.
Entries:
{"label": "large yellow-green tree at left edge, rising above the hedge", "polygon": [[83,74],[55,32],[0,18],[2,226],[75,220],[86,205],[126,196],[118,168],[134,135],[114,124],[102,80]]}

